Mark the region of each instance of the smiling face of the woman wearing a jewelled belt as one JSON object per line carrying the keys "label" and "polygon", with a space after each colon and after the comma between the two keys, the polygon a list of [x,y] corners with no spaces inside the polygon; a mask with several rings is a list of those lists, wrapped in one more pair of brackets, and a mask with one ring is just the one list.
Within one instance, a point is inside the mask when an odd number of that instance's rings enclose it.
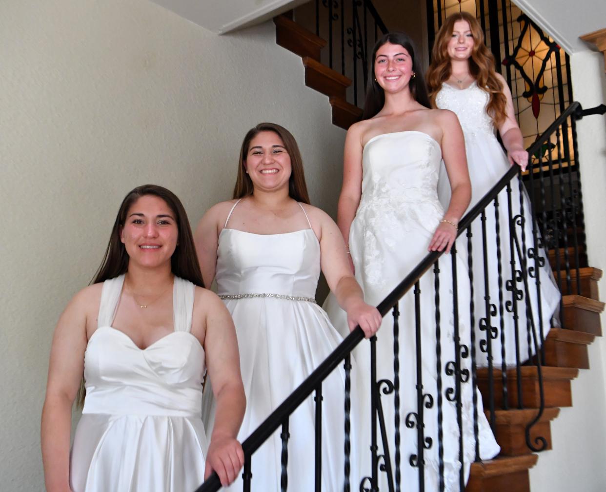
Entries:
{"label": "smiling face of the woman wearing a jewelled belt", "polygon": [[284,142],[273,131],[261,131],[250,141],[244,166],[255,189],[288,188],[292,171]]}

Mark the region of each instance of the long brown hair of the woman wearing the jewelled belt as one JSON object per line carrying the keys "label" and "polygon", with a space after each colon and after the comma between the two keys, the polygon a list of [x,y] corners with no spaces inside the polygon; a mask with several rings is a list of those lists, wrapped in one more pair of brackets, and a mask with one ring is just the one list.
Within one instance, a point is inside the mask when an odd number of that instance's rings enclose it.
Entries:
{"label": "long brown hair of the woman wearing the jewelled belt", "polygon": [[244,198],[253,194],[253,182],[246,173],[246,156],[250,149],[250,141],[262,131],[273,131],[284,142],[284,148],[290,157],[290,179],[288,179],[288,195],[298,202],[309,205],[309,194],[307,193],[307,184],[305,184],[305,173],[303,171],[303,159],[299,146],[293,134],[286,128],[276,123],[259,123],[254,128],[250,128],[244,136],[242,147],[240,148],[240,159],[238,161],[238,177],[236,185],[233,188],[233,198]]}

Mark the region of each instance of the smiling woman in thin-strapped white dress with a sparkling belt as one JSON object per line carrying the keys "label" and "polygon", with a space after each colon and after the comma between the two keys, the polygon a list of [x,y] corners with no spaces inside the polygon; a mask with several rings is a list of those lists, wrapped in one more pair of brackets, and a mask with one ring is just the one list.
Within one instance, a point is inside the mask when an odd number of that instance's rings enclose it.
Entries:
{"label": "smiling woman in thin-strapped white dress with a sparkling belt", "polygon": [[[335,222],[309,205],[298,146],[279,125],[248,131],[234,199],[211,207],[195,238],[204,281],[216,279],[236,325],[247,397],[238,434],[244,440],[342,341],[315,301],[320,270],[350,329],[359,324],[371,336],[381,316],[362,299]],[[344,477],[341,366],[322,383],[322,394],[322,490],[337,491]],[[206,396],[211,427],[213,395]],[[309,397],[289,418],[288,452],[295,459],[288,460],[288,490],[314,489],[314,409]],[[280,489],[280,456],[276,432],[252,456],[253,490]],[[231,486],[241,488],[241,479]]]}

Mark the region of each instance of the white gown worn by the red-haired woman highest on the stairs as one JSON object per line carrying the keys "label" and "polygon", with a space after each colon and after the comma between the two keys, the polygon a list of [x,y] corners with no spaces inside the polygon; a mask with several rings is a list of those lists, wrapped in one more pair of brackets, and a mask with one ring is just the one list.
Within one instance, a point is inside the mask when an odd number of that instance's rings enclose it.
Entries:
{"label": "white gown worn by the red-haired woman highest on the stairs", "polygon": [[[499,179],[509,169],[509,161],[503,152],[496,136],[492,120],[486,113],[486,104],[488,102],[488,93],[478,87],[475,82],[464,90],[458,90],[448,84],[443,84],[442,89],[436,97],[436,105],[439,108],[448,109],[456,113],[463,128],[465,136],[465,151],[467,153],[467,165],[471,179],[471,204],[473,207]],[[518,178],[511,181],[511,205],[512,216],[520,213],[520,193],[518,188]],[[441,166],[440,178],[438,184],[439,199],[444,206],[450,202],[450,185],[444,164]],[[499,367],[503,360],[502,349],[505,350],[505,362],[507,365],[516,364],[516,329],[514,324],[513,308],[507,310],[507,303],[511,303],[513,296],[511,290],[505,286],[510,282],[511,275],[511,253],[509,244],[509,213],[507,205],[507,192],[504,190],[499,193],[499,227],[500,227],[500,247],[501,247],[501,292],[502,301],[499,302],[499,273],[498,273],[498,251],[496,242],[496,218],[493,204],[486,208],[486,230],[487,230],[487,261],[488,261],[488,295],[490,304],[494,305],[494,311],[489,313],[490,325],[496,328],[497,337],[492,344],[493,364]],[[524,215],[530,218],[530,200],[524,187],[522,187],[522,203],[524,204]],[[526,248],[532,244],[532,224],[527,221],[524,227],[516,226],[519,244],[522,248],[522,232],[525,235]],[[482,253],[482,224],[480,218],[474,221],[471,231],[473,248],[473,278],[474,284],[474,312],[476,326],[479,325],[482,318],[487,317],[485,307],[484,292],[484,254]],[[467,238],[461,238],[458,241],[459,248],[467,249]],[[525,253],[526,255],[528,253]],[[544,248],[539,249],[539,254],[544,258],[544,266],[539,268],[539,281],[541,292],[541,309],[539,310],[539,301],[537,294],[536,278],[528,276],[528,285],[530,288],[530,304],[532,307],[534,325],[537,330],[541,328],[542,336],[546,337],[551,327],[551,317],[558,308],[561,294],[553,279],[551,267],[547,260],[547,251]],[[518,254],[514,254],[516,268],[520,269],[520,259]],[[528,259],[528,267],[534,268],[534,259]],[[516,288],[524,291],[522,279],[516,282]],[[518,311],[518,347],[519,361],[526,361],[530,354],[534,354],[534,343],[530,338],[530,331],[527,329],[527,315],[525,299],[517,302]],[[502,316],[501,316],[502,312]],[[540,316],[539,316],[540,314]],[[502,321],[502,324],[501,324]],[[555,321],[557,324],[557,321]],[[504,337],[505,343],[502,343],[501,337]],[[481,332],[481,337],[485,339],[485,331]],[[537,331],[538,340],[539,331]],[[530,342],[530,343],[529,343]],[[530,349],[530,352],[529,352]],[[478,364],[488,365],[487,354],[478,351]]]}

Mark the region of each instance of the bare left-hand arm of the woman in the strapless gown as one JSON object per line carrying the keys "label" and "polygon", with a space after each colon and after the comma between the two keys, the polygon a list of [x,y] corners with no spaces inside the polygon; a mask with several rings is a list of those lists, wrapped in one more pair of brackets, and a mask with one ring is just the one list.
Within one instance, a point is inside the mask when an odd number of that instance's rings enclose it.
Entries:
{"label": "bare left-hand arm of the woman in the strapless gown", "polygon": [[[343,184],[337,207],[337,224],[349,244],[351,222],[356,216],[356,210],[362,196],[362,144],[359,124],[352,125],[345,137],[343,155]],[[348,259],[349,264],[349,259]]]}

